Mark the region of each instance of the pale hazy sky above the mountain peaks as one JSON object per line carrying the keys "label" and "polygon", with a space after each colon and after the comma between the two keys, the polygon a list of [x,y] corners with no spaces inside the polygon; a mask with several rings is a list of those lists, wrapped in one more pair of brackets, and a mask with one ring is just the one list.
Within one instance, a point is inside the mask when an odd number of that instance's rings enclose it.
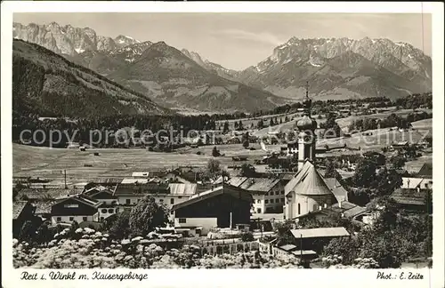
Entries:
{"label": "pale hazy sky above the mountain peaks", "polygon": [[[131,36],[198,52],[225,68],[244,69],[298,38],[388,38],[431,56],[431,14],[417,13],[14,13],[14,22],[93,28],[97,35]],[[423,21],[423,25],[422,25]]]}

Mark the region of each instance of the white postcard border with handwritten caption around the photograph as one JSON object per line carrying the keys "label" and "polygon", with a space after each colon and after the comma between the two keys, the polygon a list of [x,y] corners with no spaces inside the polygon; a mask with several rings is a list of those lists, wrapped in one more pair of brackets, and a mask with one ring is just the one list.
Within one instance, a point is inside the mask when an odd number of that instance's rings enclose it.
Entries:
{"label": "white postcard border with handwritten caption around the photograph", "polygon": [[[145,270],[149,280],[139,281],[59,281],[20,282],[21,269],[12,268],[12,12],[398,12],[433,14],[433,269],[419,272],[424,281],[376,280],[376,270],[356,269],[224,269],[224,270]],[[3,2],[1,7],[2,44],[2,279],[3,287],[79,287],[105,284],[107,287],[277,287],[311,285],[318,287],[443,287],[444,271],[444,177],[443,177],[443,4],[420,2],[345,3],[345,2]],[[77,273],[91,273],[88,269]],[[103,270],[101,270],[103,271]],[[119,269],[119,272],[129,271]],[[395,269],[393,273],[409,271]],[[39,270],[39,272],[44,272]],[[114,269],[113,272],[117,272]],[[139,272],[139,271],[138,271]],[[140,271],[142,272],[142,271]],[[392,270],[384,269],[391,273]],[[431,277],[428,277],[431,276]]]}

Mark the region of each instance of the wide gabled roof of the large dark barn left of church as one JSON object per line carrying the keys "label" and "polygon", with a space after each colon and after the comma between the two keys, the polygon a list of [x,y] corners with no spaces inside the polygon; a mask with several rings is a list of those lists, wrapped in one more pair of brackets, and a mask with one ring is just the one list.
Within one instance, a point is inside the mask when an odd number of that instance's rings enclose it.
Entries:
{"label": "wide gabled roof of the large dark barn left of church", "polygon": [[253,201],[252,196],[249,193],[243,193],[243,191],[244,191],[243,189],[236,188],[231,185],[223,184],[217,188],[213,188],[213,189],[204,191],[202,193],[198,193],[193,196],[190,196],[189,199],[187,199],[186,201],[184,201],[182,203],[174,204],[172,207],[172,210],[177,210],[179,208],[188,206],[190,204],[195,204],[200,201],[206,200],[208,198],[223,195],[223,194],[229,194],[231,196],[252,202]]}

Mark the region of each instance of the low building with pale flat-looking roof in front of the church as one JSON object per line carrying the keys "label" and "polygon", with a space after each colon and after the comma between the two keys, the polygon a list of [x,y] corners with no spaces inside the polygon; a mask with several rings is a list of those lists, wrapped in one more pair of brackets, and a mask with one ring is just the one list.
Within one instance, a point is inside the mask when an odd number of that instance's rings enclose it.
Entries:
{"label": "low building with pale flat-looking roof in front of the church", "polygon": [[287,233],[293,236],[291,244],[296,246],[296,250],[312,250],[317,253],[320,253],[330,240],[350,236],[344,227],[292,229]]}

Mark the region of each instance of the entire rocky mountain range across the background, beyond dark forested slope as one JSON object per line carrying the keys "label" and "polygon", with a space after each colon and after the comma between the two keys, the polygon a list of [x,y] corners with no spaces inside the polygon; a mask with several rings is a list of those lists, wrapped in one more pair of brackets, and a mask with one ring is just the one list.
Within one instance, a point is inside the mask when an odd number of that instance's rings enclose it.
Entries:
{"label": "entire rocky mountain range across the background, beyond dark forested slope", "polygon": [[91,28],[20,23],[14,38],[42,45],[168,108],[252,112],[317,100],[430,92],[432,60],[388,39],[290,38],[255,66],[235,71],[164,42],[97,36]]}

